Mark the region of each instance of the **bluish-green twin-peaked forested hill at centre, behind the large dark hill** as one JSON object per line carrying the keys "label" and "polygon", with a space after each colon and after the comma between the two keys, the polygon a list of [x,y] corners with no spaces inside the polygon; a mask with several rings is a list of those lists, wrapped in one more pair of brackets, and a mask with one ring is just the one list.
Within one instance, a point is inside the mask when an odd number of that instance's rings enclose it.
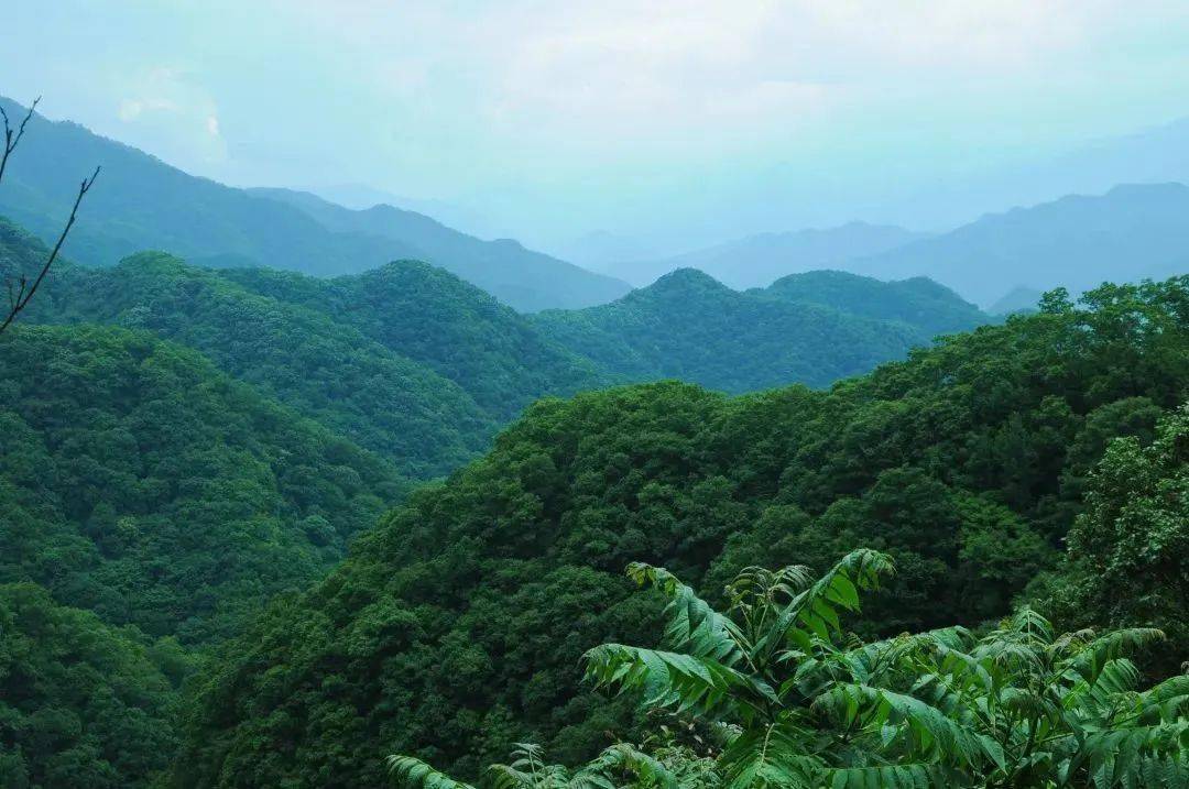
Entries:
{"label": "bluish-green twin-peaked forested hill at centre, behind the large dark hill", "polygon": [[[883,285],[866,284],[875,291]],[[772,292],[738,292],[700,271],[680,269],[610,304],[548,310],[533,321],[560,345],[621,379],[680,378],[728,392],[791,381],[828,386],[902,358],[937,333],[932,316],[929,326],[913,326],[844,311],[845,299],[830,304],[820,288],[812,298],[805,295],[807,289],[797,296],[794,283],[784,291],[781,296],[774,286]],[[886,289],[882,295],[898,298]],[[952,302],[962,304],[956,297]],[[982,322],[977,310],[964,307],[965,320],[943,321],[945,330]]]}

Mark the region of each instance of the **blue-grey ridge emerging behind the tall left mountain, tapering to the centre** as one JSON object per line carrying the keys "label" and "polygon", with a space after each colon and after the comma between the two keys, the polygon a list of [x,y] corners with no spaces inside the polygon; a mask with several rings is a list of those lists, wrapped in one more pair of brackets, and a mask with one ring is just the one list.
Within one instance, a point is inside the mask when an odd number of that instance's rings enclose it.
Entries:
{"label": "blue-grey ridge emerging behind the tall left mountain, tapering to the centre", "polygon": [[303,191],[250,191],[298,208],[334,233],[384,238],[409,245],[419,253],[404,257],[452,271],[520,310],[602,304],[630,290],[623,282],[526,250],[512,239],[480,241],[428,216],[391,206],[373,206],[357,212]]}

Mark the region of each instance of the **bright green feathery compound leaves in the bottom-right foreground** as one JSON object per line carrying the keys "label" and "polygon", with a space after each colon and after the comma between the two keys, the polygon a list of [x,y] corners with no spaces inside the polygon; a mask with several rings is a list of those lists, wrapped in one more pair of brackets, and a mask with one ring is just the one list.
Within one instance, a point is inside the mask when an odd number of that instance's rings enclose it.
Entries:
{"label": "bright green feathery compound leaves in the bottom-right foreground", "polygon": [[[686,737],[692,747],[677,760],[615,745],[573,772],[542,764],[539,747],[521,746],[520,759],[487,769],[487,783],[493,789],[546,789],[584,778],[579,785],[633,789],[1189,783],[1189,676],[1137,693],[1139,671],[1127,657],[1158,643],[1158,630],[1057,637],[1048,620],[1023,608],[981,638],[948,627],[856,642],[844,617],[893,572],[891,557],[868,549],[848,554],[820,577],[804,566],[751,567],[726,587],[721,613],[663,568],[630,564],[629,576],[669,599],[662,649],[600,644],[584,656],[586,678],[596,688],[637,695],[653,720],[675,719],[710,741]],[[653,728],[661,737],[672,731]],[[416,758],[392,756],[389,763],[411,789],[466,785]]]}

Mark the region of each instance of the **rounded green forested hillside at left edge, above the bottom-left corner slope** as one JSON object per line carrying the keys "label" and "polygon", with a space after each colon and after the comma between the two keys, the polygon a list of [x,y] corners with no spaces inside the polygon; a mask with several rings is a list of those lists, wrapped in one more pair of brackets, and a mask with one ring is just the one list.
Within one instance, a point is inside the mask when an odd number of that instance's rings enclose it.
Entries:
{"label": "rounded green forested hillside at left edge, above the bottom-left corner slope", "polygon": [[203,643],[317,577],[405,484],[215,371],[105,327],[0,342],[0,582]]}

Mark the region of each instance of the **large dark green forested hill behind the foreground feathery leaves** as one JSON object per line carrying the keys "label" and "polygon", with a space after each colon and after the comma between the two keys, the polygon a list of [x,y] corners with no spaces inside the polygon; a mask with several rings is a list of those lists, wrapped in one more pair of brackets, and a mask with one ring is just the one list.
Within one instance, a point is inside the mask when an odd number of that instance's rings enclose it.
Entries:
{"label": "large dark green forested hill behind the foreground feathery leaves", "polygon": [[[606,701],[575,676],[597,644],[656,643],[656,594],[621,575],[634,561],[717,604],[744,567],[820,572],[869,545],[898,573],[848,623],[860,636],[1001,617],[1057,564],[1075,522],[1087,535],[1119,523],[1086,494],[1111,490],[1109,468],[1127,461],[1122,449],[1102,461],[1113,438],[1151,443],[1189,396],[1187,354],[1181,278],[1103,288],[1080,305],[1052,293],[1038,315],[828,392],[726,398],[663,383],[543,400],[489,455],[414,493],[326,580],[272,605],[200,683],[175,778],[378,785],[391,752],[472,776],[526,740],[577,763],[638,732],[631,700]],[[1178,455],[1155,446],[1134,462],[1176,484]],[[1153,491],[1134,516],[1151,517],[1146,561],[1160,555],[1169,487],[1137,485]],[[1051,594],[1076,582],[1053,577]],[[1058,627],[1160,624],[1178,605],[1082,599]]]}

